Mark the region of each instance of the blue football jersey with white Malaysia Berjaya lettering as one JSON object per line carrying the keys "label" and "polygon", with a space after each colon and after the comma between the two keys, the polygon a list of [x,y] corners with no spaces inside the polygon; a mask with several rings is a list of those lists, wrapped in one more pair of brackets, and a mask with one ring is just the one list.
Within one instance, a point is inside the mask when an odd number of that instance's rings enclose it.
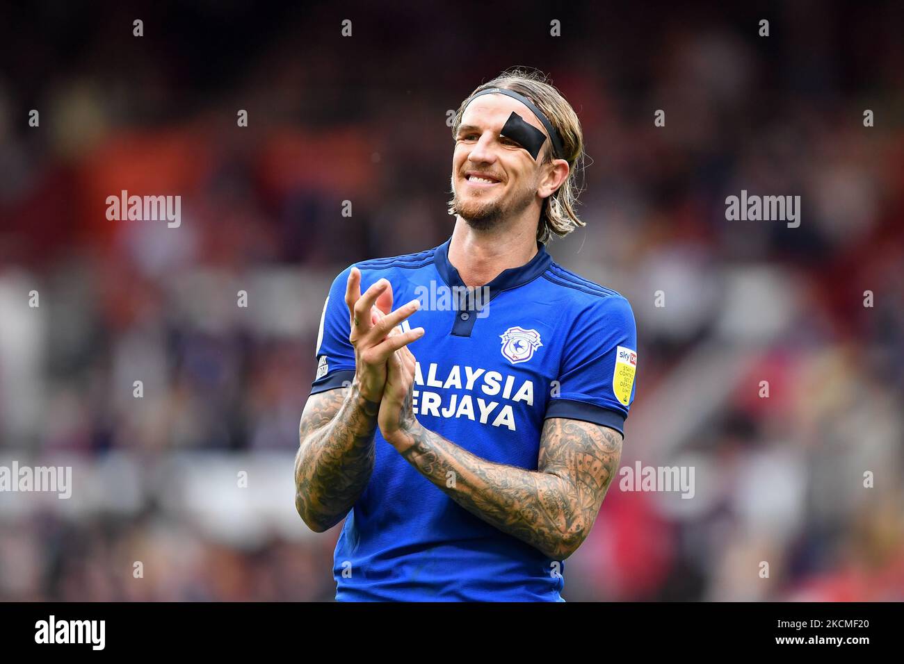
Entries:
{"label": "blue football jersey with white Malaysia Berjaya lettering", "polygon": [[[636,326],[627,300],[556,265],[542,244],[470,299],[449,241],[356,263],[362,293],[381,277],[424,336],[413,406],[421,425],[493,463],[537,470],[543,420],[567,417],[623,432],[634,400]],[[317,336],[312,394],[354,376],[344,301],[334,280]],[[376,433],[373,473],[335,547],[336,599],[562,601],[564,564],[460,507]]]}

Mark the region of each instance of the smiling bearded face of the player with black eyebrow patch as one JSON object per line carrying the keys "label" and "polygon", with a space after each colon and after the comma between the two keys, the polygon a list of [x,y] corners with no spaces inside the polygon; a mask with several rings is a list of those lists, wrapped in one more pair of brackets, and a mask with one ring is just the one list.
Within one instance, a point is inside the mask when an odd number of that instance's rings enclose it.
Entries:
{"label": "smiling bearded face of the player with black eyebrow patch", "polygon": [[500,136],[506,120],[517,113],[524,122],[546,131],[517,99],[482,95],[468,104],[461,118],[452,156],[452,207],[474,229],[493,228],[536,203],[539,216],[543,144],[538,160],[512,138]]}

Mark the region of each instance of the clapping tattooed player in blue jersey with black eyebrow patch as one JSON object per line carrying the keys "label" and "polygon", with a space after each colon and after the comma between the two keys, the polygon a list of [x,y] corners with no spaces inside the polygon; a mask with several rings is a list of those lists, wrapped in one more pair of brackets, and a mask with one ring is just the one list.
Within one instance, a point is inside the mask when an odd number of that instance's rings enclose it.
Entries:
{"label": "clapping tattooed player in blue jersey with black eyebrow patch", "polygon": [[453,137],[452,237],[350,266],[326,298],[296,507],[317,532],[347,517],[338,600],[562,601],[618,468],[634,316],[544,246],[583,226],[578,117],[513,70]]}

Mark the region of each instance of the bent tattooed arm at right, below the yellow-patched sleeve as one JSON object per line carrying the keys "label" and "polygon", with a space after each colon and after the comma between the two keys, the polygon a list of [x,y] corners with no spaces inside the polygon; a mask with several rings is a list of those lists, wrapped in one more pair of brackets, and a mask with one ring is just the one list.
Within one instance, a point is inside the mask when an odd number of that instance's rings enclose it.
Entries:
{"label": "bent tattooed arm at right, below the yellow-patched sleeve", "polygon": [[416,423],[403,437],[401,454],[452,500],[557,560],[587,537],[622,446],[606,426],[551,417],[534,472],[485,461]]}

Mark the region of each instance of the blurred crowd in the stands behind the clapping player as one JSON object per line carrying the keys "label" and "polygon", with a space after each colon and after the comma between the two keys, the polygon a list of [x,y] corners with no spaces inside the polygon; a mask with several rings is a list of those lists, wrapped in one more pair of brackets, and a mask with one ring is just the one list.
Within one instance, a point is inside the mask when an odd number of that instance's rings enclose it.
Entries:
{"label": "blurred crowd in the stands behind the clapping player", "polygon": [[[587,143],[587,228],[551,253],[634,307],[622,463],[696,470],[692,500],[616,478],[564,597],[904,599],[904,11],[577,4],[553,38],[519,6],[492,29],[416,5],[2,10],[0,464],[125,455],[144,490],[0,493],[0,599],[333,597],[339,528],[279,525],[326,289],[445,241],[447,111],[514,64],[551,73]],[[123,190],[181,195],[181,226],[108,220]],[[799,228],[726,220],[741,190],[800,195]],[[234,482],[149,479],[264,453],[284,504],[230,537],[186,505],[231,510]]]}

